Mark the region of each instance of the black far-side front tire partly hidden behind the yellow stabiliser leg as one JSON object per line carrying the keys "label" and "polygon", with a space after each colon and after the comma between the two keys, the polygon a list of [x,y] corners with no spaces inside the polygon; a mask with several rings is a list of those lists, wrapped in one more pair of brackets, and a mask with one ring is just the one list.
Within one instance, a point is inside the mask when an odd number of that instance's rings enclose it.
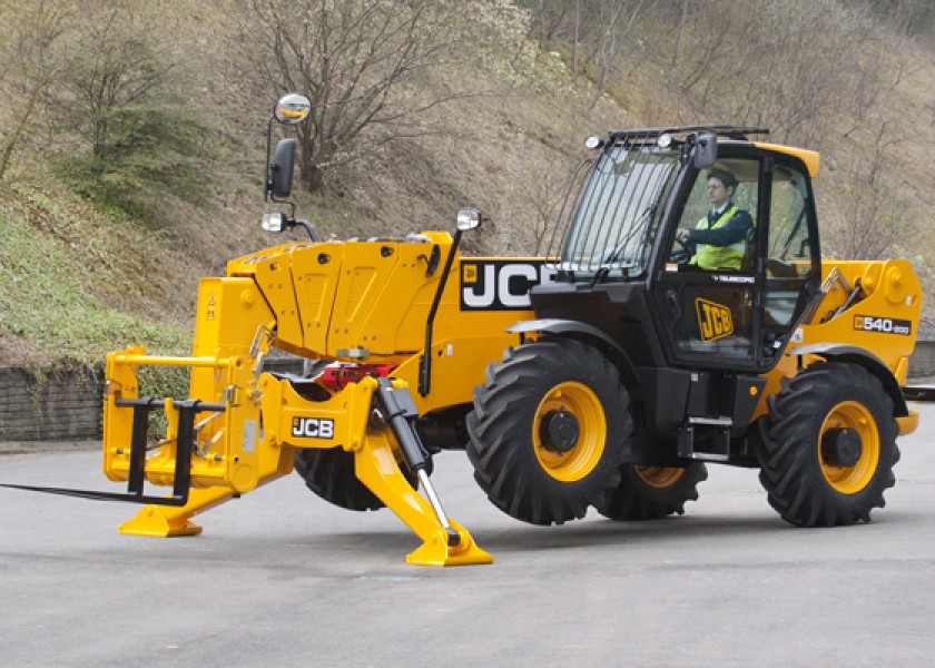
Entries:
{"label": "black far-side front tire partly hidden behind the yellow stabiliser leg", "polygon": [[[417,481],[405,464],[400,469],[415,489]],[[429,460],[429,474],[432,460]],[[304,448],[295,453],[295,472],[305,485],[328,503],[347,510],[380,510],[386,504],[354,473],[354,453],[341,448]]]}

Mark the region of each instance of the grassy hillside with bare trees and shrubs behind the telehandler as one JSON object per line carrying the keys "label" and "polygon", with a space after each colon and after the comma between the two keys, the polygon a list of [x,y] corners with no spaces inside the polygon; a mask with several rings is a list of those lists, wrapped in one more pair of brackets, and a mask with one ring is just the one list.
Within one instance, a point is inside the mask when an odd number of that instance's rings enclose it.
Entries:
{"label": "grassy hillside with bare trees and shrubs behind the telehandler", "polygon": [[326,237],[473,205],[469,253],[541,254],[587,135],[755,125],[823,154],[825,254],[907,256],[931,289],[932,24],[913,0],[0,1],[0,364],[186,353],[198,278],[282,240],[257,220],[288,90]]}

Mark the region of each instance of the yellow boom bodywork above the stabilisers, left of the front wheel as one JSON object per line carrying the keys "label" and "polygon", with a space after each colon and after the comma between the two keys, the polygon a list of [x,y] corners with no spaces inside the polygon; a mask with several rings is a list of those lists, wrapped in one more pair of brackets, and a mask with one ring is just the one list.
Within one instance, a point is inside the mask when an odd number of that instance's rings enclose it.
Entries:
{"label": "yellow boom bodywork above the stabilisers, left of the front wheel", "polygon": [[[289,244],[233,261],[228,275],[256,276],[277,322],[276,347],[314,360],[398,364],[393,377],[409,383],[424,414],[470,402],[488,362],[499,361],[516,342],[506,327],[532,317],[532,311],[521,310],[462,312],[456,258],[431,351],[433,377],[447,382],[434,383],[427,396],[415,393],[425,323],[442,272],[439,266],[426,276],[433,246],[444,258],[451,237],[423,233],[405,242]],[[479,259],[484,258],[472,258]],[[198,315],[200,321],[203,311]]]}

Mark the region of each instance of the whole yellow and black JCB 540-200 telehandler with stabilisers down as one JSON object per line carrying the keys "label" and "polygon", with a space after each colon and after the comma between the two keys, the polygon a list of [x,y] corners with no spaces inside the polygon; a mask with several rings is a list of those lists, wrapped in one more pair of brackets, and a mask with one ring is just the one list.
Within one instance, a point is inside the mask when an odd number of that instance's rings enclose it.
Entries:
{"label": "whole yellow and black JCB 540-200 telehandler with stabilisers down", "polygon": [[[308,112],[292,95],[274,117]],[[535,524],[682,513],[709,462],[759,468],[793,524],[869,521],[917,424],[903,389],[922,289],[903,259],[823,261],[819,157],[750,139],[766,132],[589,139],[543,258],[461,257],[472,209],[453,239],[319,242],[294,208],[268,214],[312,240],[203,279],[190,357],[108,356],[104,469],[146,503],[120,530],[197,533],[195,514],[295,469],[337,505],[388,505],[423,540],[412,563],[490,562],[432,487],[443,449],[466,449],[490,500]],[[284,139],[267,160],[268,199],[288,198],[294,154]],[[711,169],[735,176],[752,225],[734,266],[702,269],[677,238],[705,217]],[[307,373],[265,371],[270,347]],[[190,367],[188,397],[142,396],[148,365]],[[155,441],[152,411],[169,423]]]}

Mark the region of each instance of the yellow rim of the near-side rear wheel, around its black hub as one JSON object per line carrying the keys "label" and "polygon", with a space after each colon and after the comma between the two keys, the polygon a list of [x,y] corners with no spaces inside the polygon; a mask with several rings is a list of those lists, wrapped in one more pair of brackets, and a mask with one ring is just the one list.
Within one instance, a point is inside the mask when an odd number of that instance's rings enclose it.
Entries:
{"label": "yellow rim of the near-side rear wheel, around its black hub", "polygon": [[[860,436],[860,456],[853,466],[837,465],[821,450],[821,438],[833,429],[852,429]],[[845,401],[837,404],[825,418],[818,438],[818,461],[821,473],[837,492],[856,494],[867,487],[879,463],[879,432],[873,414],[864,404]]]}

